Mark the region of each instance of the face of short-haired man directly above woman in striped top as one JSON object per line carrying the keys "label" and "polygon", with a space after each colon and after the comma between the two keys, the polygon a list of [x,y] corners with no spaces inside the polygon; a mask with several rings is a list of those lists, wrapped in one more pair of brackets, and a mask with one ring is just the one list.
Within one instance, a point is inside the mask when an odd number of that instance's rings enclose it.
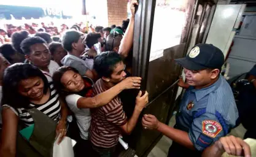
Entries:
{"label": "face of short-haired man directly above woman in striped top", "polygon": [[34,44],[30,47],[29,61],[36,67],[47,67],[51,54],[46,44]]}

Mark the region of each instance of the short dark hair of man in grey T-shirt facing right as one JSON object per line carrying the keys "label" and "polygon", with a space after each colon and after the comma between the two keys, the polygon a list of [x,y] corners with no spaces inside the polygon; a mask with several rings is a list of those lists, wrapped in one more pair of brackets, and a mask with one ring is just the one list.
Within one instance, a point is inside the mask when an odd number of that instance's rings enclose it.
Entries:
{"label": "short dark hair of man in grey T-shirt facing right", "polygon": [[73,49],[72,44],[74,42],[78,42],[80,37],[81,34],[77,31],[67,31],[62,38],[62,45],[64,49],[71,52]]}

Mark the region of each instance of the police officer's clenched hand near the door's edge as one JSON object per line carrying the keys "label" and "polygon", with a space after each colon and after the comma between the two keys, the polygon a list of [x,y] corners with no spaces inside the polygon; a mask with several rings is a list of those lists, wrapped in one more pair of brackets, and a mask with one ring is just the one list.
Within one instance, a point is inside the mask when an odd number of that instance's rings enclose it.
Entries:
{"label": "police officer's clenched hand near the door's edge", "polygon": [[154,115],[144,115],[142,118],[142,126],[144,129],[157,129],[159,121]]}

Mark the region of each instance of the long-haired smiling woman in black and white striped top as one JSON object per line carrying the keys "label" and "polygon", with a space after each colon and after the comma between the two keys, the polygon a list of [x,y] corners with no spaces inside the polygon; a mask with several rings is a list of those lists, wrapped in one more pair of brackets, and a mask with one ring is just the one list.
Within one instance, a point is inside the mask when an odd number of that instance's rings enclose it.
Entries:
{"label": "long-haired smiling woman in black and white striped top", "polygon": [[[18,121],[34,124],[28,110],[36,108],[57,124],[57,136],[66,134],[67,108],[45,75],[31,64],[6,69],[2,86],[2,141],[0,156],[15,156]],[[47,126],[45,126],[47,127]]]}

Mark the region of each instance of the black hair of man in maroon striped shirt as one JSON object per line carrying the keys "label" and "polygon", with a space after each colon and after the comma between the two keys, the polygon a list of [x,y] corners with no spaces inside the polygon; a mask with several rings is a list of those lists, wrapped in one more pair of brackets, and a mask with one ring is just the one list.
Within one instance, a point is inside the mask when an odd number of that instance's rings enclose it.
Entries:
{"label": "black hair of man in maroon striped shirt", "polygon": [[122,57],[116,52],[104,52],[95,57],[93,69],[99,77],[111,77],[117,63],[122,62]]}

